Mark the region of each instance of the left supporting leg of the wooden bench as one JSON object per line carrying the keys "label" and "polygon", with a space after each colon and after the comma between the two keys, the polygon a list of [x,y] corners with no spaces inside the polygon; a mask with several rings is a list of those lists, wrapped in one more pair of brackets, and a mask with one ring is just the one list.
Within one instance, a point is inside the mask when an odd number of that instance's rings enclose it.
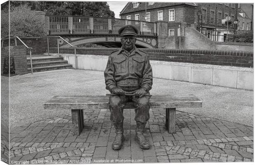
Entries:
{"label": "left supporting leg of the wooden bench", "polygon": [[83,109],[71,109],[73,135],[79,135],[83,130]]}

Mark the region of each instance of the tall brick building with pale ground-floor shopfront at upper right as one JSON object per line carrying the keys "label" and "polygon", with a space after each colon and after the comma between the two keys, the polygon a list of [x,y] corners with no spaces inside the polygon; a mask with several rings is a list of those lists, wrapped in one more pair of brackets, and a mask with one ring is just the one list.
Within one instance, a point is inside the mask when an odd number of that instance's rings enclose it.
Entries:
{"label": "tall brick building with pale ground-floor shopfront at upper right", "polygon": [[[213,41],[223,42],[234,31],[235,3],[197,3],[197,30]],[[232,31],[232,32],[230,32]]]}

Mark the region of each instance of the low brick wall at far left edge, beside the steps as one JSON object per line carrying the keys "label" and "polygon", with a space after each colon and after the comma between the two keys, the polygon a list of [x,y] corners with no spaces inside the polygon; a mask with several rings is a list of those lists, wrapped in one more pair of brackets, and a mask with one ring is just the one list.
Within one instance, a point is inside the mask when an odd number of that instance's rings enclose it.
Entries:
{"label": "low brick wall at far left edge, beside the steps", "polygon": [[[9,47],[3,47],[1,49],[1,65],[2,66],[5,66],[4,65],[5,62],[6,62],[6,67],[9,66],[8,64],[9,56],[11,60],[10,67],[13,68],[13,69],[10,69],[10,71],[14,70],[15,74],[17,75],[28,73],[27,55],[26,55],[26,49],[24,46],[10,46],[10,52],[9,52]],[[2,66],[1,66],[1,74],[6,72],[4,71],[4,68],[2,68]]]}

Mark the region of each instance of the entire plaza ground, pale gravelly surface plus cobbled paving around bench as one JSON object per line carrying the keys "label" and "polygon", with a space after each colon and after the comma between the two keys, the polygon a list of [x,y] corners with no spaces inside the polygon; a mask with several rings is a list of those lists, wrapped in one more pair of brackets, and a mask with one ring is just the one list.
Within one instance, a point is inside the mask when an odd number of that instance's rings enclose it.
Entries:
{"label": "entire plaza ground, pale gravelly surface plus cobbled paving around bench", "polygon": [[126,140],[121,150],[113,151],[109,109],[84,111],[85,128],[79,136],[72,134],[70,111],[43,109],[43,103],[56,95],[106,94],[103,72],[69,69],[12,77],[10,163],[254,161],[253,91],[162,79],[153,83],[165,86],[153,86],[152,94],[168,94],[168,89],[177,95],[188,92],[199,97],[203,107],[178,108],[175,134],[166,130],[165,109],[150,109],[144,132],[149,150],[137,145],[135,112],[126,109]]}

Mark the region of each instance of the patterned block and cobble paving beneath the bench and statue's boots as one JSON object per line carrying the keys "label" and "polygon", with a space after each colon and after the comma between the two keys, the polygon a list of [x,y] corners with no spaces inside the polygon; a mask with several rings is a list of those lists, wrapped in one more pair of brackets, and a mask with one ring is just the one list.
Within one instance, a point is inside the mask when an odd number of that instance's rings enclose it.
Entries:
{"label": "patterned block and cobble paving beneath the bench and statue's boots", "polygon": [[[165,128],[165,110],[150,109],[142,150],[134,139],[134,110],[124,110],[126,140],[113,151],[114,127],[107,109],[86,110],[85,128],[72,134],[71,113],[11,130],[11,163],[129,163],[253,161],[253,127],[177,111],[176,133]],[[17,162],[15,162],[17,161]],[[111,162],[112,161],[112,162]],[[135,162],[134,162],[135,163]],[[137,162],[136,162],[137,163]]]}

